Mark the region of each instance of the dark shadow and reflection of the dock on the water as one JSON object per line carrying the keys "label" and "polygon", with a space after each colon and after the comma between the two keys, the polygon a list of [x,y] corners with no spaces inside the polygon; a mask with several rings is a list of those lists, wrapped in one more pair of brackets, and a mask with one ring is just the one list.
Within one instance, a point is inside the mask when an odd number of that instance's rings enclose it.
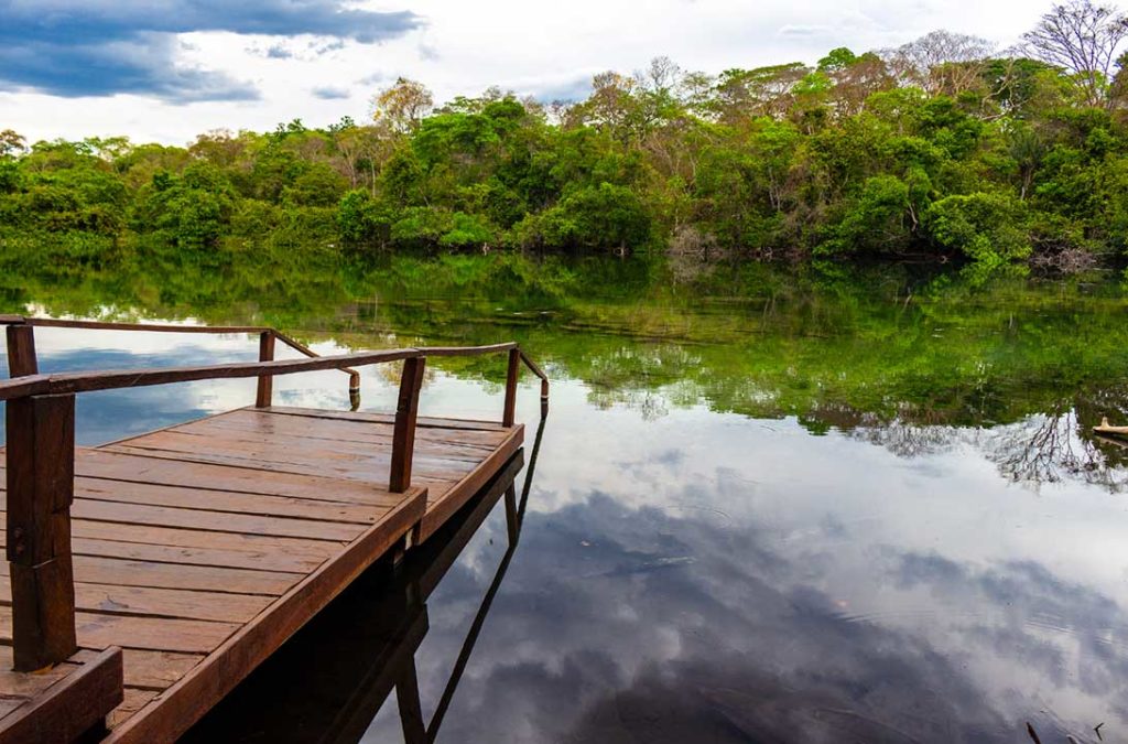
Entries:
{"label": "dark shadow and reflection of the dock on the water", "polygon": [[[180,737],[180,744],[355,744],[372,741],[365,734],[381,708],[393,702],[406,744],[434,742],[517,552],[545,422],[541,417],[528,464],[525,449],[518,450],[425,544],[373,564]],[[428,599],[499,508],[505,552],[458,656],[449,659],[441,697],[425,714],[416,655],[430,629]]]}

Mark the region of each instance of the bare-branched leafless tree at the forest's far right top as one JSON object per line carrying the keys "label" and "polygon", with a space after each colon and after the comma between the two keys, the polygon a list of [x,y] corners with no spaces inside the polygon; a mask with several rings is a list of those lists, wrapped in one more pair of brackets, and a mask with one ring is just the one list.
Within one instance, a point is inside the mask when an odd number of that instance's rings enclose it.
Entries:
{"label": "bare-branched leafless tree at the forest's far right top", "polygon": [[1109,81],[1128,38],[1128,16],[1092,0],[1069,0],[1055,5],[1022,38],[1031,55],[1077,76],[1087,105],[1112,107]]}

